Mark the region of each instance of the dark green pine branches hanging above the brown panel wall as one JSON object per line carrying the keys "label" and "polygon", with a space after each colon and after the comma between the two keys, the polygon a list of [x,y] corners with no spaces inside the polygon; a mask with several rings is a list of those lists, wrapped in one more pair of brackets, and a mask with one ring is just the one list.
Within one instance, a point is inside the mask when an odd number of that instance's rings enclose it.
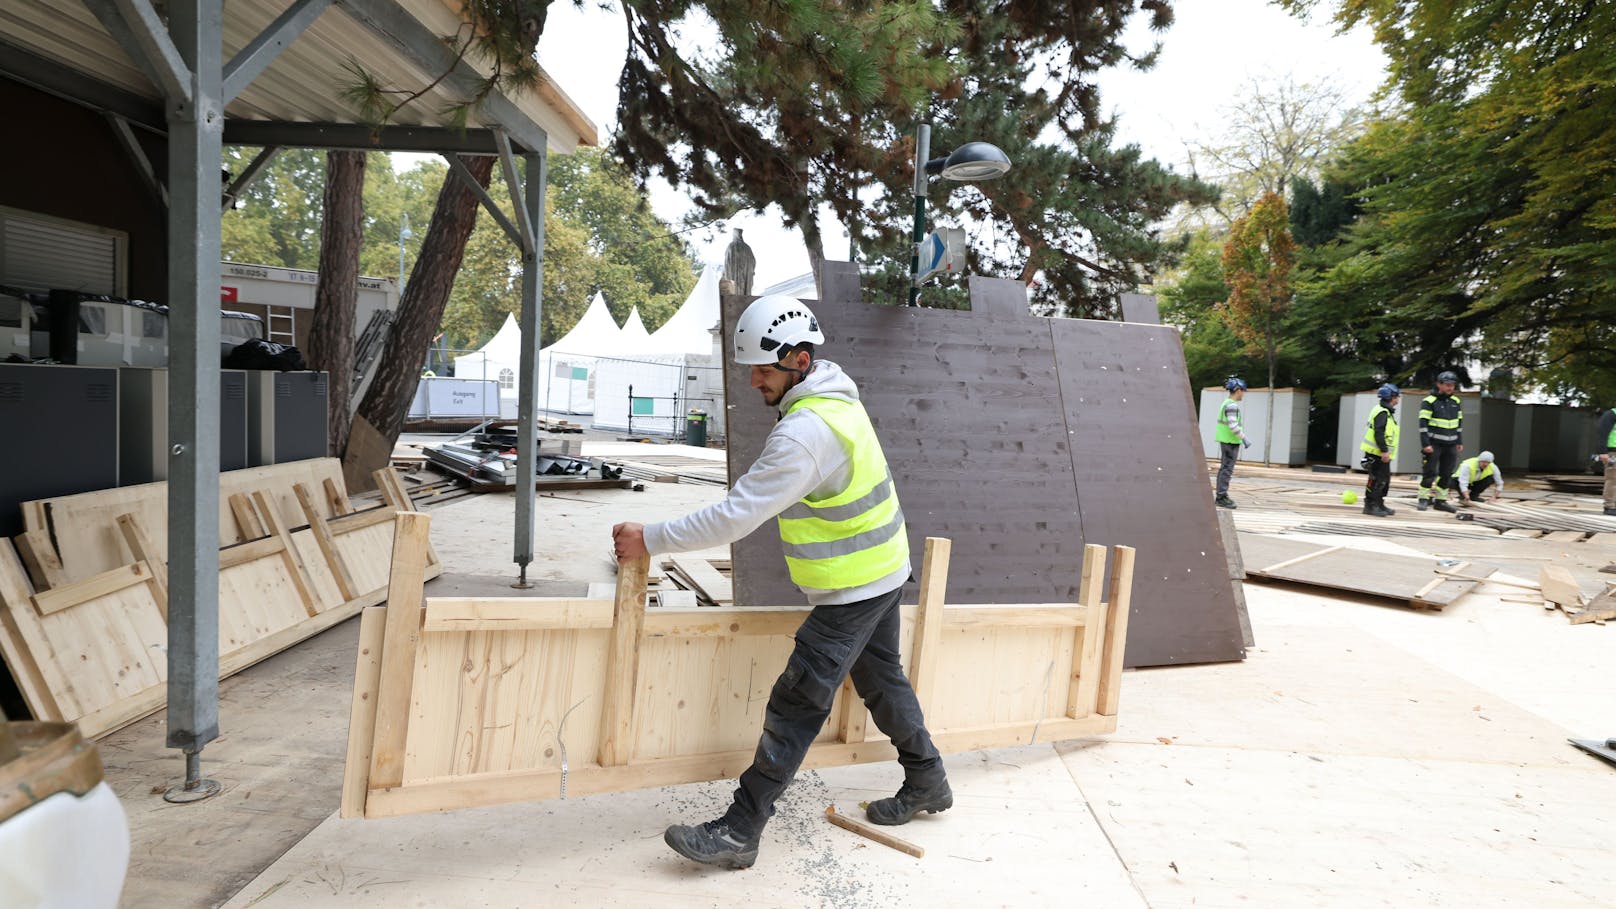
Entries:
{"label": "dark green pine branches hanging above the brown panel wall", "polygon": [[[866,260],[897,265],[866,281],[892,301],[907,285],[923,120],[934,155],[987,141],[1015,162],[970,189],[932,183],[929,222],[965,223],[970,270],[1033,283],[1046,312],[1109,314],[1117,293],[1178,252],[1155,223],[1212,197],[1136,147],[1112,147],[1115,125],[1100,115],[1094,74],[1151,65],[1154,49],[1130,57],[1122,29],[1136,10],[1165,29],[1160,0],[627,6],[614,139],[624,160],[714,215],[781,204],[811,259],[816,205],[829,204]],[[713,58],[682,57],[671,39],[672,13],[696,8],[726,39]],[[928,306],[955,296],[926,291]]]}

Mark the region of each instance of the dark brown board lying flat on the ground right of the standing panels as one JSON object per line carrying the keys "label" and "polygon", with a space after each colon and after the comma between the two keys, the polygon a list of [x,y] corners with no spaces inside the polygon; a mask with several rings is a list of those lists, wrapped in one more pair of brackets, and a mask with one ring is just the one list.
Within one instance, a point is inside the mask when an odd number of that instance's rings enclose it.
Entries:
{"label": "dark brown board lying flat on the ground right of the standing panels", "polygon": [[[1414,558],[1345,547],[1324,547],[1262,534],[1241,534],[1246,574],[1312,587],[1349,590],[1440,610],[1475,587],[1475,581],[1443,579],[1435,558]],[[1456,566],[1448,566],[1451,569]],[[1485,577],[1492,568],[1466,564],[1462,574]]]}

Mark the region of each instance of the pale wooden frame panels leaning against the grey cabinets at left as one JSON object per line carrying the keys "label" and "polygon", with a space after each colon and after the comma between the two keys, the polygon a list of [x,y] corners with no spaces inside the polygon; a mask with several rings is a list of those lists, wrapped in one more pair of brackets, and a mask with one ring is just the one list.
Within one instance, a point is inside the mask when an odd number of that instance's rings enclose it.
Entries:
{"label": "pale wooden frame panels leaning against the grey cabinets at left", "polygon": [[[314,471],[318,477],[323,469],[304,463],[288,474],[307,477]],[[393,547],[398,514],[391,506],[360,514],[344,511],[331,519],[322,509],[349,508],[336,482],[325,484],[326,495],[317,500],[307,488],[249,488],[247,479],[236,479],[236,492],[225,505],[229,527],[221,537],[231,545],[220,550],[221,678],[388,597],[385,553]],[[134,556],[123,564],[66,579],[58,560],[65,553],[52,548],[44,531],[29,531],[21,539],[36,573],[57,579],[36,592],[11,542],[0,540],[0,655],[36,718],[78,721],[87,736],[158,710],[168,695],[166,564],[142,518],[152,514],[150,490],[129,488],[141,495],[107,490],[24,508],[34,519],[50,518],[61,539],[94,540],[110,534]],[[61,508],[47,508],[61,501],[66,501]],[[297,503],[310,519],[307,527],[288,526],[286,501]],[[112,505],[136,509],[107,514]],[[86,529],[66,522],[68,516],[81,514],[105,518],[108,526]],[[90,564],[105,553],[102,547],[74,564]],[[351,571],[351,560],[367,568]],[[435,558],[422,571],[423,577],[440,573]]]}

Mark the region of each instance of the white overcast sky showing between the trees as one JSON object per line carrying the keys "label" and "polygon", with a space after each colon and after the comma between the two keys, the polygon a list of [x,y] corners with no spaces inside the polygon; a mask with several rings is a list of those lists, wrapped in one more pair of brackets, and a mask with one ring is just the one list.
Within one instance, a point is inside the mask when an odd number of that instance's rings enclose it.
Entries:
{"label": "white overcast sky showing between the trees", "polygon": [[[1385,58],[1367,29],[1338,36],[1328,23],[1298,21],[1265,0],[1175,0],[1173,11],[1175,23],[1160,36],[1162,55],[1154,70],[1112,71],[1099,79],[1107,110],[1118,116],[1120,141],[1134,142],[1165,163],[1181,163],[1186,142],[1214,141],[1220,133],[1220,107],[1252,78],[1328,81],[1359,104],[1383,74]],[[1154,36],[1139,19],[1126,40],[1131,49],[1144,50]],[[540,63],[595,121],[603,139],[614,121],[625,49],[621,13],[601,11],[593,3],[577,10],[567,0],[549,6]],[[1015,171],[1005,180],[1015,180]],[[666,186],[653,189],[651,202],[671,222],[690,207]],[[755,290],[808,270],[800,235],[781,228],[777,212],[745,214],[730,225],[745,228],[756,252]],[[692,231],[690,238],[705,262],[722,262],[727,231]],[[847,257],[840,225],[827,222],[824,238],[826,256]]]}

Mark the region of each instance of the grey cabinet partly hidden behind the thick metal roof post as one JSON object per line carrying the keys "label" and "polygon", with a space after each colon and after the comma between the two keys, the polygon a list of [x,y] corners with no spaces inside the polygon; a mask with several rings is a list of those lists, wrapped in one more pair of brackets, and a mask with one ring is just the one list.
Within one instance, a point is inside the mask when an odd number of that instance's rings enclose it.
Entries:
{"label": "grey cabinet partly hidden behind the thick metal roof post", "polygon": [[[168,370],[118,370],[118,479],[121,485],[168,479]],[[218,469],[247,466],[247,374],[220,372]]]}

